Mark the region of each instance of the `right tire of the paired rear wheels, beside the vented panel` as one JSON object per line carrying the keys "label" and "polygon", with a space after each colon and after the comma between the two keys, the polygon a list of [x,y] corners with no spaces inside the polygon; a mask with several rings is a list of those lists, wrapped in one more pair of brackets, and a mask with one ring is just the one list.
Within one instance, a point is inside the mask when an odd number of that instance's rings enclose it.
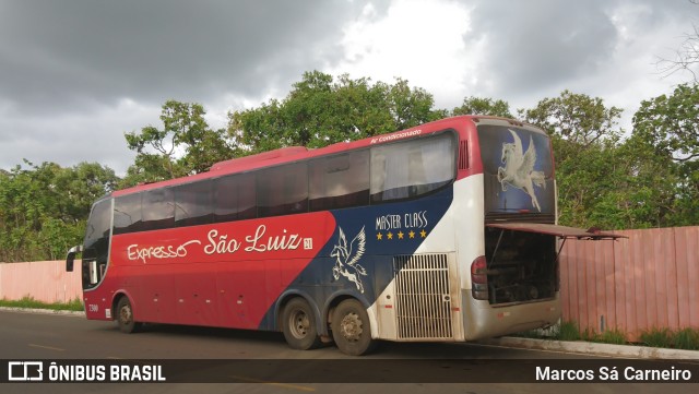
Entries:
{"label": "right tire of the paired rear wheels, beside the vented panel", "polygon": [[335,345],[345,355],[362,356],[376,348],[369,315],[356,299],[340,302],[332,315],[331,329]]}

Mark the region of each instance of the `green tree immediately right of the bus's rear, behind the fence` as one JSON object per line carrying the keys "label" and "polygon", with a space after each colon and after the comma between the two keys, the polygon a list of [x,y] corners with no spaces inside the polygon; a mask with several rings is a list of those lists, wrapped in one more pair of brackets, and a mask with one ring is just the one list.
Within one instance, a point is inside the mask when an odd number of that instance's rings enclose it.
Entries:
{"label": "green tree immediately right of the bus's rear, behind the fence", "polygon": [[606,107],[599,97],[564,91],[519,114],[552,136],[560,223],[626,228],[619,204],[625,195],[615,194],[626,179],[625,168],[618,166],[624,154],[617,128],[621,109]]}

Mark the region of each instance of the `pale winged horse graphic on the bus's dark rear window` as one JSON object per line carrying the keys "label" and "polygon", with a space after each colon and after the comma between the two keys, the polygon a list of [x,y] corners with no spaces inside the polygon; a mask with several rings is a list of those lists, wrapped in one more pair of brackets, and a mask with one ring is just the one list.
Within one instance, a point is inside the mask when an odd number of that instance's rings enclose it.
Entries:
{"label": "pale winged horse graphic on the bus's dark rear window", "polygon": [[529,136],[529,147],[524,152],[522,140],[513,130],[508,130],[512,134],[514,142],[502,144],[501,160],[505,163],[505,167],[498,167],[498,181],[502,187],[502,191],[507,191],[507,184],[524,191],[532,198],[532,205],[538,212],[542,212],[534,193],[534,186],[546,188],[546,177],[543,171],[534,171],[534,163],[536,163],[534,140],[531,135]]}

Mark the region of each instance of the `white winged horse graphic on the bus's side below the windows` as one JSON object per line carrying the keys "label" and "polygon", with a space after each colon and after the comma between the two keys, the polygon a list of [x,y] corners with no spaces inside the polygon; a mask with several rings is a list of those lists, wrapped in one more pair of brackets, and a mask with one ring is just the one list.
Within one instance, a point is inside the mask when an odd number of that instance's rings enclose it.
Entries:
{"label": "white winged horse graphic on the bus's side below the windows", "polygon": [[350,243],[347,243],[347,237],[345,237],[345,232],[340,227],[337,244],[334,246],[330,253],[330,256],[336,259],[335,265],[332,267],[332,276],[335,280],[340,279],[340,275],[342,275],[350,282],[354,282],[360,292],[364,292],[362,276],[366,276],[367,271],[357,262],[364,255],[366,243],[367,238],[364,234],[364,227]]}

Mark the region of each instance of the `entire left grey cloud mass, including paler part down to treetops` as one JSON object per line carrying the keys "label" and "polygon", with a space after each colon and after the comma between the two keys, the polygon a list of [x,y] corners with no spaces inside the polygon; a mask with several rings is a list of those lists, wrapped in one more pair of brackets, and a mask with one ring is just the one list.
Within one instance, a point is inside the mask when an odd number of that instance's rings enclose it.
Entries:
{"label": "entire left grey cloud mass, including paler part down to treetops", "polygon": [[[132,157],[123,132],[158,124],[165,100],[205,105],[284,91],[301,72],[340,57],[333,43],[360,5],[2,1],[0,168],[26,157],[100,162],[123,171]],[[127,98],[153,114],[130,115],[120,107]]]}

